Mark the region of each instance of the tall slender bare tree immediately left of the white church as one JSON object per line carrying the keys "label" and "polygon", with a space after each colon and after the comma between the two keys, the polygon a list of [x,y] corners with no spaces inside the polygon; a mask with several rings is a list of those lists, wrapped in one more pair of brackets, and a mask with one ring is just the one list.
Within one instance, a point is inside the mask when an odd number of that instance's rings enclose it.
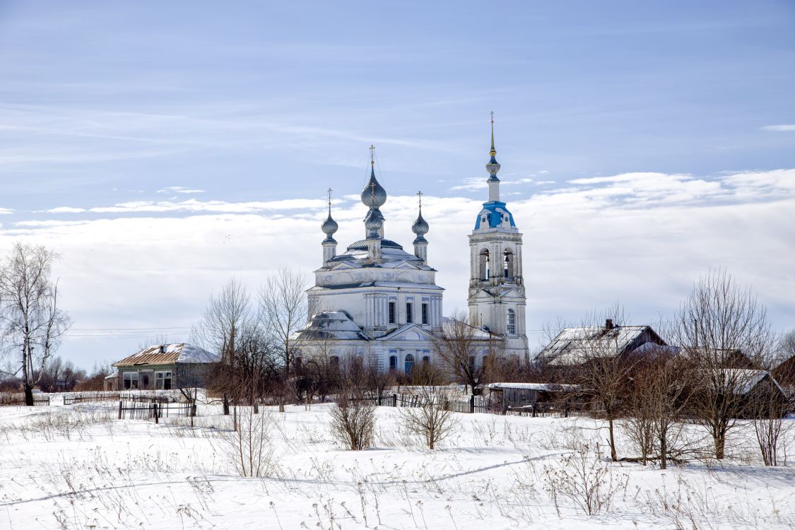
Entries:
{"label": "tall slender bare tree immediately left of the white church", "polygon": [[285,412],[285,396],[289,393],[291,369],[301,349],[301,330],[307,322],[305,290],[308,278],[292,269],[280,269],[259,291],[262,325],[273,339],[282,370],[279,412]]}

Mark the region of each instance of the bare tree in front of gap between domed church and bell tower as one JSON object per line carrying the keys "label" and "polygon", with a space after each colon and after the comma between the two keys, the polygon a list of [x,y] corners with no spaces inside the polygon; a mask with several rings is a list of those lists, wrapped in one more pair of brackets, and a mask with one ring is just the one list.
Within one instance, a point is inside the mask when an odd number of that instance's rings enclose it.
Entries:
{"label": "bare tree in front of gap between domed church and bell tower", "polygon": [[477,362],[477,354],[487,348],[487,357],[493,358],[496,341],[490,339],[484,345],[483,331],[477,323],[470,323],[463,311],[456,311],[444,322],[442,331],[433,338],[433,346],[440,365],[463,385],[471,389],[472,395],[479,393],[483,384],[483,363]]}

